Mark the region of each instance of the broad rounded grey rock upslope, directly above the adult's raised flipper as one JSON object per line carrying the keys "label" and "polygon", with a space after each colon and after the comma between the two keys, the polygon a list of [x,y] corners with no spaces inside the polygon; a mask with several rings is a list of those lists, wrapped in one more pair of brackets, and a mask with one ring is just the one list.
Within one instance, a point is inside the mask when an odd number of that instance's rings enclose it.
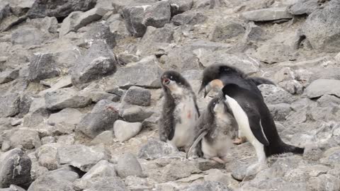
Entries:
{"label": "broad rounded grey rock upslope, directly above the adult's raised flipper", "polygon": [[295,54],[292,47],[284,44],[264,44],[256,50],[257,59],[268,64],[274,64],[277,62],[284,62],[287,59],[295,59]]}

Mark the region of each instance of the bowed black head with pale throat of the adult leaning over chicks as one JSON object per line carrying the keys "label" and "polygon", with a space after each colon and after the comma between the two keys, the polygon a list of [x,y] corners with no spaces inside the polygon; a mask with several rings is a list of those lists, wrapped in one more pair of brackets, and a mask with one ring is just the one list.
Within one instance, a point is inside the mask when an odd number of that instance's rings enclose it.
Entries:
{"label": "bowed black head with pale throat of the adult leaning over chicks", "polygon": [[222,89],[225,85],[223,79],[231,74],[239,74],[241,76],[245,75],[239,69],[226,64],[212,64],[206,67],[203,71],[203,80],[198,93],[204,89],[205,98],[205,96],[207,96],[210,91]]}

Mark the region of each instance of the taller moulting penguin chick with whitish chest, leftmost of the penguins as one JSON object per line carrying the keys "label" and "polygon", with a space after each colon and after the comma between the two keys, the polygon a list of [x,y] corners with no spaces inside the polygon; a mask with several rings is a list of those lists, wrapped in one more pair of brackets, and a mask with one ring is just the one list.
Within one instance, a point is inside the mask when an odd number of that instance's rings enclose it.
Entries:
{"label": "taller moulting penguin chick with whitish chest, leftmost of the penguins", "polygon": [[195,124],[200,112],[196,95],[176,71],[165,71],[161,76],[164,105],[159,119],[159,138],[188,151],[195,136]]}

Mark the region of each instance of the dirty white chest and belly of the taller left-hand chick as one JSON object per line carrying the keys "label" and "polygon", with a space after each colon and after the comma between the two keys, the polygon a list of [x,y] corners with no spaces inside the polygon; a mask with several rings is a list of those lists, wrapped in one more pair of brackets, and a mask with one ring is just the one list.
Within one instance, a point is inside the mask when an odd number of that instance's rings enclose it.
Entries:
{"label": "dirty white chest and belly of the taller left-hand chick", "polygon": [[172,144],[177,147],[190,146],[194,138],[194,128],[198,119],[195,103],[191,98],[185,98],[176,105],[175,127]]}

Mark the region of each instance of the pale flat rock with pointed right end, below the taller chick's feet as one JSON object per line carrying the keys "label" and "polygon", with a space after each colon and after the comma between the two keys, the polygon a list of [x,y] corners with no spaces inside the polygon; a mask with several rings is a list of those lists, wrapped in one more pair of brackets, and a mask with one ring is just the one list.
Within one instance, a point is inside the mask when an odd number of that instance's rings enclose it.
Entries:
{"label": "pale flat rock with pointed right end, below the taller chick's feet", "polygon": [[164,167],[162,180],[164,182],[186,178],[193,173],[200,173],[200,170],[189,161],[173,161]]}

